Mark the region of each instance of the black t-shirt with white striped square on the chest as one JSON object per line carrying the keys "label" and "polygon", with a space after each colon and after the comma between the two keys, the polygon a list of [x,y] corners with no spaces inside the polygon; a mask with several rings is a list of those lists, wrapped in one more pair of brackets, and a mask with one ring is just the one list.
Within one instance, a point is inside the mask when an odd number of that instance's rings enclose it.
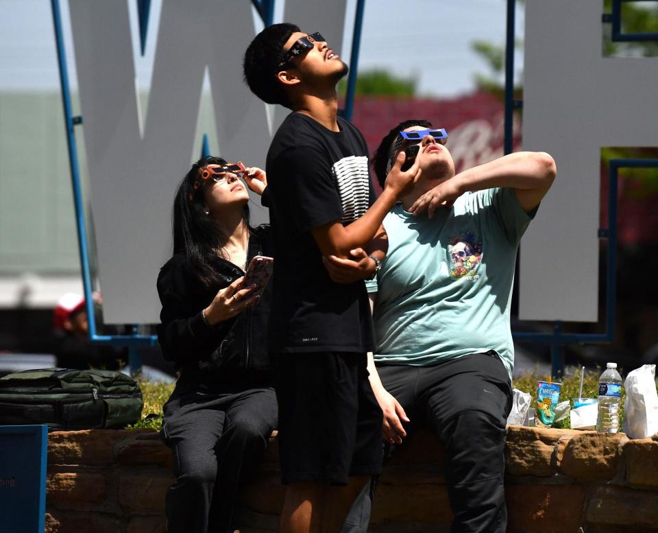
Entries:
{"label": "black t-shirt with white striped square on the chest", "polygon": [[363,281],[334,283],[311,228],[361,217],[374,201],[367,145],[352,124],[339,132],[293,112],[267,154],[274,294],[269,346],[275,353],[367,352],[374,333]]}

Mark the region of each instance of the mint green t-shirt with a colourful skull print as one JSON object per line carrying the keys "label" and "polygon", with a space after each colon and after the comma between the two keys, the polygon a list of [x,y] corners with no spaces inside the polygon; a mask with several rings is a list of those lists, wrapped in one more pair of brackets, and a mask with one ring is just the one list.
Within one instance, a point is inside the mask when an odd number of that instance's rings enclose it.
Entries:
{"label": "mint green t-shirt with a colourful skull print", "polygon": [[514,266],[535,212],[513,189],[466,193],[432,219],[396,205],[384,219],[387,255],[367,282],[377,293],[375,360],[431,366],[495,350],[511,375]]}

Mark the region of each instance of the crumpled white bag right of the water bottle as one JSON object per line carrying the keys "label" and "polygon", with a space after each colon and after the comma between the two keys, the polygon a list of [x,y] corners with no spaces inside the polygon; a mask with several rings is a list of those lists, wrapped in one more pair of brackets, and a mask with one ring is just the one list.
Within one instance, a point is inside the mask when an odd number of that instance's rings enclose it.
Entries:
{"label": "crumpled white bag right of the water bottle", "polygon": [[631,438],[647,438],[658,434],[658,392],[656,366],[646,364],[636,368],[624,381],[624,433]]}

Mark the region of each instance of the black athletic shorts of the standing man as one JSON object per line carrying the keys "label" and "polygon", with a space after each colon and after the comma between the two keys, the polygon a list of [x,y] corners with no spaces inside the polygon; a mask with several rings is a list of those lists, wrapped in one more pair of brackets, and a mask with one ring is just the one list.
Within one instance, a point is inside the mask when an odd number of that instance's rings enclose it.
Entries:
{"label": "black athletic shorts of the standing man", "polygon": [[273,357],[282,482],[348,483],[382,469],[382,410],[365,353]]}

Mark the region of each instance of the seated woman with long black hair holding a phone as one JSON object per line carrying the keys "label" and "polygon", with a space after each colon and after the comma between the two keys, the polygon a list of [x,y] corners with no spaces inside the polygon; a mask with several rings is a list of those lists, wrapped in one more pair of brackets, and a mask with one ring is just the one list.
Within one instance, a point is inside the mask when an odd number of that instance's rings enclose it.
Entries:
{"label": "seated woman with long black hair holding a phone", "polygon": [[240,176],[263,193],[260,169],[214,157],[192,165],[175,196],[173,257],[158,276],[158,340],[180,368],[162,424],[177,477],[167,493],[169,533],[232,533],[239,482],[276,427],[271,291],[258,301],[241,285],[252,257],[271,256],[269,226],[249,226]]}

